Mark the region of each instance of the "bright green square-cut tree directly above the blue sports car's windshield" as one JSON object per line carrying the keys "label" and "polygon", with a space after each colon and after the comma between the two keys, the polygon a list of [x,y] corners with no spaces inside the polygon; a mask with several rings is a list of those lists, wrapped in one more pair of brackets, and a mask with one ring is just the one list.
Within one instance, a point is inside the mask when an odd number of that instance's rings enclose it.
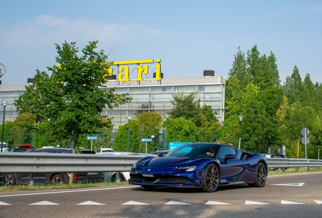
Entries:
{"label": "bright green square-cut tree directly above the blue sports car's windshield", "polygon": [[166,132],[166,140],[168,142],[195,142],[197,127],[191,121],[184,118],[168,118],[163,127]]}

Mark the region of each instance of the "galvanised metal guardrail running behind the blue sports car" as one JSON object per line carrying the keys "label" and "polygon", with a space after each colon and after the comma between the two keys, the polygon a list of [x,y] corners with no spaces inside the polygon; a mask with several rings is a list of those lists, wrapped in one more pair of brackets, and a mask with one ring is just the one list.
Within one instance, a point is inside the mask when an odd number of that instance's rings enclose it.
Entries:
{"label": "galvanised metal guardrail running behind the blue sports car", "polygon": [[[129,172],[146,155],[0,153],[0,173]],[[322,167],[322,160],[266,158],[269,168]]]}

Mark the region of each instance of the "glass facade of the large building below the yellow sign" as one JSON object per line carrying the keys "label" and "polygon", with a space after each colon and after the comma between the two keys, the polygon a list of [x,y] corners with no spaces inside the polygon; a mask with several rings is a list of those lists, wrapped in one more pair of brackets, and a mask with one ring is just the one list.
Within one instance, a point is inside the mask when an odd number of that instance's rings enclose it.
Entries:
{"label": "glass facade of the large building below the yellow sign", "polygon": [[[183,78],[180,78],[183,79]],[[193,78],[192,78],[193,79]],[[176,84],[176,85],[150,85],[139,86],[137,84],[130,84],[126,87],[116,86],[115,93],[129,93],[133,98],[131,103],[120,105],[118,108],[109,110],[105,108],[101,115],[106,115],[112,119],[114,125],[112,131],[112,138],[114,138],[116,131],[120,125],[124,125],[128,122],[128,117],[135,117],[136,114],[140,114],[145,111],[153,111],[162,115],[163,121],[167,118],[167,110],[172,108],[170,100],[172,95],[178,92],[189,94],[191,91],[197,91],[197,98],[200,99],[200,105],[211,105],[213,112],[216,112],[216,117],[220,122],[224,120],[224,95],[225,84],[224,82],[211,82],[207,83],[207,78],[197,77],[198,84]],[[200,82],[200,80],[202,82]],[[194,81],[194,80],[192,80]],[[203,82],[205,81],[205,82]],[[202,83],[202,84],[200,84]],[[7,101],[5,121],[14,121],[18,116],[16,107],[13,104],[15,99],[24,93],[24,86],[20,85],[0,85],[0,100],[1,102]],[[20,90],[17,90],[17,87]],[[23,90],[21,90],[23,87]],[[114,86],[107,85],[105,88],[113,88]],[[103,89],[103,88],[102,88]],[[3,109],[0,108],[0,121],[3,122]]]}

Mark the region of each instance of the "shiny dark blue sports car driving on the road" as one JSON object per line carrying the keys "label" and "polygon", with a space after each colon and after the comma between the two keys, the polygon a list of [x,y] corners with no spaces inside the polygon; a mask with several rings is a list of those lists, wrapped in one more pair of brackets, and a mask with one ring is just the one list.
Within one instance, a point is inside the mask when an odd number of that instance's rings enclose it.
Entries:
{"label": "shiny dark blue sports car driving on the road", "polygon": [[249,153],[218,143],[181,145],[166,156],[147,156],[131,168],[130,184],[152,189],[162,186],[192,186],[205,192],[218,185],[247,183],[265,186],[267,164],[259,153]]}

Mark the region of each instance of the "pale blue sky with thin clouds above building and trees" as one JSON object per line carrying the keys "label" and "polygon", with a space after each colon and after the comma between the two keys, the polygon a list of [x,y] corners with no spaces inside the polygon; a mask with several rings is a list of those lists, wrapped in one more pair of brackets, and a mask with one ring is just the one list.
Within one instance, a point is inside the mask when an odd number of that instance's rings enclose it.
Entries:
{"label": "pale blue sky with thin clouds above building and trees", "polygon": [[98,40],[109,61],[162,59],[165,78],[228,76],[238,47],[276,57],[281,84],[296,65],[322,82],[321,1],[1,1],[2,84],[55,64],[55,43]]}

